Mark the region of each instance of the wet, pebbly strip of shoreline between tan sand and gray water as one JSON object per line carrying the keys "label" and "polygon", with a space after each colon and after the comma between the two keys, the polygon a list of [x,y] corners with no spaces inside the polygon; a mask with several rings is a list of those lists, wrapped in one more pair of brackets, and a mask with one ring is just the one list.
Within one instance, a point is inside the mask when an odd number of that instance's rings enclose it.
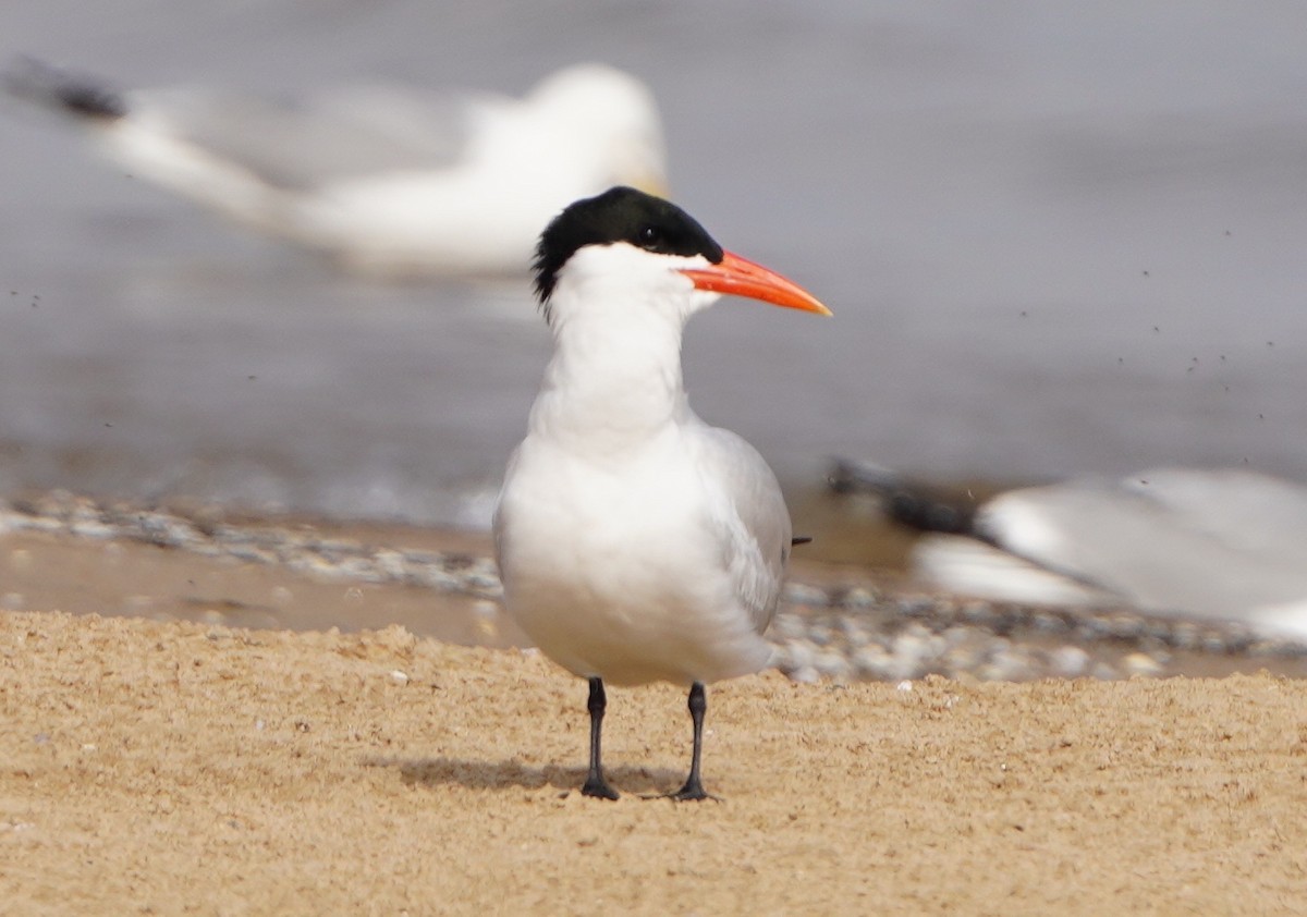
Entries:
{"label": "wet, pebbly strip of shoreline between tan sand and gray water", "polygon": [[[145,509],[61,494],[0,512],[0,610],[356,632],[399,624],[521,647],[488,534]],[[819,556],[819,555],[818,555]],[[799,556],[767,632],[796,681],[1307,677],[1307,647],[1238,623],[931,592],[902,571]]]}

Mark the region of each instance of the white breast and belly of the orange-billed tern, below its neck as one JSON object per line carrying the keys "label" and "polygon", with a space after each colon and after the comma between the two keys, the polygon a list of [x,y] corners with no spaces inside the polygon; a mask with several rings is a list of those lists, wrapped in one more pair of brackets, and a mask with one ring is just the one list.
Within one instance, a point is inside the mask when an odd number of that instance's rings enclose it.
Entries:
{"label": "white breast and belly of the orange-billed tern, below its neck", "polygon": [[719,504],[676,444],[605,469],[528,440],[497,524],[508,613],[550,658],[614,684],[757,671],[771,649],[737,596]]}

